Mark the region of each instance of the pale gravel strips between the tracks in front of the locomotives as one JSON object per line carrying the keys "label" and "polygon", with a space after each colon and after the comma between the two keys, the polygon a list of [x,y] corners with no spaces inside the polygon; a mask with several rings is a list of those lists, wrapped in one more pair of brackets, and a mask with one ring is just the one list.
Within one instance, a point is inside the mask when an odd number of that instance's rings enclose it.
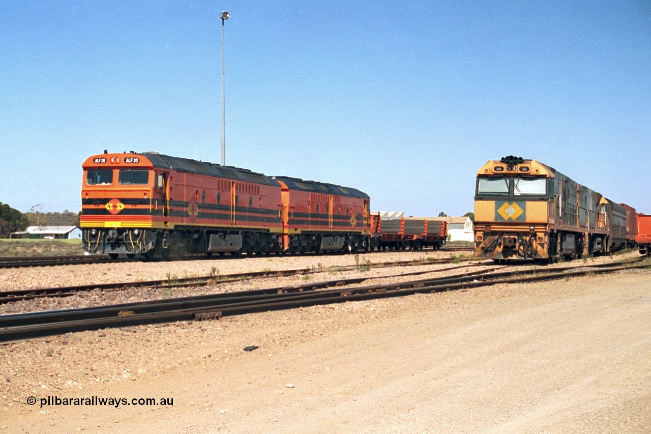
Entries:
{"label": "pale gravel strips between the tracks in front of the locomotives", "polygon": [[[428,277],[445,277],[468,271],[487,270],[499,268],[488,261],[486,267],[460,268],[464,263],[440,264],[413,267],[378,267],[370,270],[337,270],[345,265],[371,263],[391,263],[393,261],[409,261],[427,258],[450,257],[447,252],[398,252],[398,253],[370,253],[367,255],[328,255],[317,257],[253,257],[242,259],[201,259],[197,261],[175,261],[159,263],[115,263],[115,264],[90,264],[90,265],[64,265],[57,267],[31,267],[0,269],[0,295],[3,290],[10,289],[36,289],[44,287],[63,287],[69,285],[85,285],[92,283],[138,282],[148,280],[175,280],[176,278],[193,278],[210,276],[211,274],[232,274],[260,270],[293,270],[299,268],[323,269],[309,275],[296,274],[280,278],[250,279],[241,282],[216,283],[198,287],[171,287],[148,288],[138,287],[132,289],[85,291],[72,297],[36,298],[22,300],[0,305],[0,315],[11,313],[24,313],[44,310],[61,310],[72,308],[85,308],[89,306],[105,306],[107,304],[122,304],[144,300],[157,300],[163,298],[189,297],[214,293],[245,291],[247,289],[260,289],[282,287],[288,285],[301,285],[309,282],[324,282],[333,279],[359,278],[369,280],[361,283],[372,285],[380,283],[396,283]],[[454,255],[454,253],[452,253]],[[457,256],[460,256],[457,254]],[[620,261],[639,257],[637,253],[626,253],[617,257],[594,258],[589,261],[574,261],[550,265],[544,268],[561,267],[566,265],[583,266],[598,263]],[[473,264],[475,264],[473,262]],[[476,264],[475,264],[476,265]],[[531,268],[529,265],[514,267],[514,270]],[[384,278],[389,275],[399,275],[411,272],[432,270],[431,274],[421,276],[404,276]],[[378,279],[372,279],[376,277]],[[352,285],[357,286],[357,285]]]}

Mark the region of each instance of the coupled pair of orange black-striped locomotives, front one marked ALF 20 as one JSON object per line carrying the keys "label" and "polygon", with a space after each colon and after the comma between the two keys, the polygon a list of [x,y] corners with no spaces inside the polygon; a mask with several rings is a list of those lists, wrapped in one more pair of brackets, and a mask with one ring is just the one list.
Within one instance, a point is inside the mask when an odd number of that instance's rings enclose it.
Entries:
{"label": "coupled pair of orange black-striped locomotives, front one marked ALF 20", "polygon": [[90,156],[81,215],[88,253],[356,252],[370,248],[370,198],[355,188],[157,152]]}

